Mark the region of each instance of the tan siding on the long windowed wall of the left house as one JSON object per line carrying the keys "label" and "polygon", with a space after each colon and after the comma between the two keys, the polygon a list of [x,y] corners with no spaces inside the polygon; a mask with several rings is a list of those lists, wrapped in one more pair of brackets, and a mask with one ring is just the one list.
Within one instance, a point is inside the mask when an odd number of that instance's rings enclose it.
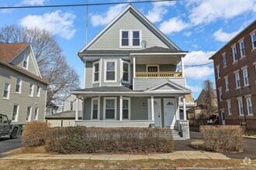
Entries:
{"label": "tan siding on the long windowed wall of the left house", "polygon": [[[22,77],[21,93],[15,93],[16,77]],[[11,84],[9,100],[3,99],[4,83]],[[29,97],[29,83],[34,83],[33,97]],[[40,97],[36,97],[36,85],[40,85]],[[6,114],[12,120],[12,110],[14,104],[19,104],[18,123],[26,123],[27,107],[32,107],[31,120],[34,119],[35,107],[39,108],[38,120],[43,121],[45,111],[47,85],[33,80],[28,76],[23,76],[21,73],[16,73],[7,67],[0,66],[0,114]]]}

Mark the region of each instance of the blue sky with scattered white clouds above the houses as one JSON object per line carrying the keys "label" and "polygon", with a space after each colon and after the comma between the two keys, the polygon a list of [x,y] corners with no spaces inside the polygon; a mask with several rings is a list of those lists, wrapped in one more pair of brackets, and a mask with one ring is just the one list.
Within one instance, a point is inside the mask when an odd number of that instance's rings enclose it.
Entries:
{"label": "blue sky with scattered white clouds above the houses", "polygon": [[[129,2],[140,0],[130,0]],[[88,0],[88,3],[126,2]],[[0,6],[85,4],[85,0],[1,0]],[[88,42],[127,5],[88,7]],[[255,0],[181,0],[133,4],[161,29],[185,56],[187,87],[196,99],[204,80],[214,82],[212,56],[242,29],[256,19]],[[84,65],[76,55],[85,46],[86,7],[0,9],[0,27],[17,24],[37,26],[52,32],[63,49],[67,63],[80,76],[83,87]],[[202,65],[211,63],[208,65]]]}

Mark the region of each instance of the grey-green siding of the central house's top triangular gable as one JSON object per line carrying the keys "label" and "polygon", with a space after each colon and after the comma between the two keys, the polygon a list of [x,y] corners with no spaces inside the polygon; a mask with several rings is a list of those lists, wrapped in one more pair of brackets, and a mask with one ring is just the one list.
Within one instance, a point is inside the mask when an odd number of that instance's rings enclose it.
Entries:
{"label": "grey-green siding of the central house's top triangular gable", "polygon": [[[147,48],[152,46],[161,46],[168,48],[153,32],[150,31],[135,15],[127,12],[115,26],[112,26],[98,42],[95,42],[90,49],[120,49],[119,48],[119,30],[120,29],[136,29],[142,31],[142,39],[147,41]],[[141,48],[137,48],[141,49]]]}

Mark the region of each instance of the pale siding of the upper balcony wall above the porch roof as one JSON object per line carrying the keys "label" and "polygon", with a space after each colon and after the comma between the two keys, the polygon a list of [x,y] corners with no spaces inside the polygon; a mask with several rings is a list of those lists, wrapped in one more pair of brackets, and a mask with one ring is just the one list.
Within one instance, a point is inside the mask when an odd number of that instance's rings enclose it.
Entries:
{"label": "pale siding of the upper balcony wall above the porch roof", "polygon": [[185,87],[185,78],[134,78],[134,90],[146,90],[155,87],[161,83],[171,80]]}

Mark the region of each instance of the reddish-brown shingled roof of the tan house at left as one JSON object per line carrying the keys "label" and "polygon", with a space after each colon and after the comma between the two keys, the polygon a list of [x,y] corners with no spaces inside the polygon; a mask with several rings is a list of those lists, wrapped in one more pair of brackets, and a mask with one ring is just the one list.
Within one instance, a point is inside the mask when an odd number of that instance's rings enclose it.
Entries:
{"label": "reddish-brown shingled roof of the tan house at left", "polygon": [[0,60],[3,62],[11,62],[16,56],[19,55],[29,43],[0,43]]}

